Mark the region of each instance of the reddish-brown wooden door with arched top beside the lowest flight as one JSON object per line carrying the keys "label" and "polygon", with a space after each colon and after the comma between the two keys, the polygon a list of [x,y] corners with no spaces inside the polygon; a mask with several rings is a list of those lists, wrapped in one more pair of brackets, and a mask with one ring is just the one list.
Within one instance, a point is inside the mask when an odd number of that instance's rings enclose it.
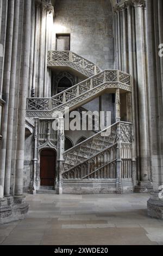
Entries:
{"label": "reddish-brown wooden door with arched top beside the lowest flight", "polygon": [[56,178],[56,153],[53,149],[43,149],[40,153],[40,185],[54,186]]}

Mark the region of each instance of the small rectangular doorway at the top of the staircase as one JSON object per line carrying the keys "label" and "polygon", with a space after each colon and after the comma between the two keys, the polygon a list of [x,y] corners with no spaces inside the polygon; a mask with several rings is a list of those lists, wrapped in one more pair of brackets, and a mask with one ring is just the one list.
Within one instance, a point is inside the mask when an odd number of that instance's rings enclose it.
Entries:
{"label": "small rectangular doorway at the top of the staircase", "polygon": [[70,51],[70,34],[56,34],[56,51]]}

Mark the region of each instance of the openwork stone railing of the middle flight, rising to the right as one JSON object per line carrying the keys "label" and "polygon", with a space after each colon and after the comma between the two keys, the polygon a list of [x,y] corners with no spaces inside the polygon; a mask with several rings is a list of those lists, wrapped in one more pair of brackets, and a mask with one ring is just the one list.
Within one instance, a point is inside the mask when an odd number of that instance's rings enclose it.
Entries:
{"label": "openwork stone railing of the middle flight, rising to the right", "polygon": [[131,92],[130,75],[120,70],[104,70],[51,98],[28,98],[27,115],[37,116],[39,112],[40,115],[45,114],[42,111],[64,111],[66,107],[71,108],[84,102],[107,88],[120,88],[126,92]]}

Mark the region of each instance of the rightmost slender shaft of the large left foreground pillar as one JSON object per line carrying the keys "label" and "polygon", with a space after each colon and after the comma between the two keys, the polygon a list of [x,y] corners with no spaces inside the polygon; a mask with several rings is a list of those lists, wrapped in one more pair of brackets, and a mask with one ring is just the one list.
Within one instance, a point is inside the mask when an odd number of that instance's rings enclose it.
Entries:
{"label": "rightmost slender shaft of the large left foreground pillar", "polygon": [[31,28],[31,0],[24,0],[24,40],[22,49],[22,70],[20,81],[20,99],[18,106],[17,123],[17,149],[16,149],[16,170],[15,170],[15,195],[22,196],[23,193],[23,167],[24,167],[24,137],[26,123],[26,98],[28,87],[29,70],[29,47]]}

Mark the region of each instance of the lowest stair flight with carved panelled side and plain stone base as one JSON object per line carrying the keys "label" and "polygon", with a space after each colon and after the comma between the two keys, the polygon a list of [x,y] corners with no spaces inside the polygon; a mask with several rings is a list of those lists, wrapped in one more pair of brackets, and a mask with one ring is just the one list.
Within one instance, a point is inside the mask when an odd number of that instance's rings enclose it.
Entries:
{"label": "lowest stair flight with carved panelled side and plain stone base", "polygon": [[120,121],[65,151],[64,193],[131,191],[131,143],[132,124]]}

